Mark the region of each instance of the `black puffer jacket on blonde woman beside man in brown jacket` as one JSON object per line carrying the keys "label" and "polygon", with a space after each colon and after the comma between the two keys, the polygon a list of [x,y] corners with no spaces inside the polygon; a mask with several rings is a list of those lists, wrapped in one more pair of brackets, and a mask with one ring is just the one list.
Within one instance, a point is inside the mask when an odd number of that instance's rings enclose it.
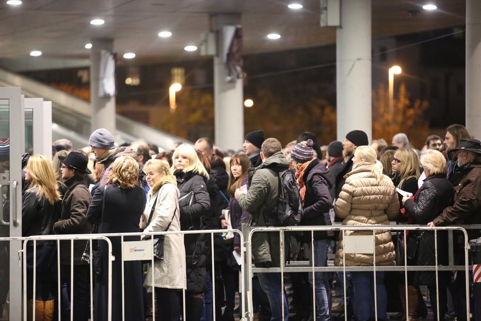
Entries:
{"label": "black puffer jacket on blonde woman beside man in brown jacket", "polygon": [[[415,199],[408,199],[404,208],[408,215],[413,216],[413,224],[426,225],[434,218],[443,213],[444,209],[451,205],[454,196],[454,189],[444,175],[426,177]],[[410,231],[412,236],[421,236],[418,245],[416,265],[435,265],[434,256],[434,232],[433,231]],[[438,264],[448,265],[448,234],[444,231],[437,233]],[[409,243],[408,243],[409,244]],[[447,284],[450,273],[441,273],[440,282]],[[418,271],[417,283],[420,285],[435,285],[436,275],[434,271]]]}

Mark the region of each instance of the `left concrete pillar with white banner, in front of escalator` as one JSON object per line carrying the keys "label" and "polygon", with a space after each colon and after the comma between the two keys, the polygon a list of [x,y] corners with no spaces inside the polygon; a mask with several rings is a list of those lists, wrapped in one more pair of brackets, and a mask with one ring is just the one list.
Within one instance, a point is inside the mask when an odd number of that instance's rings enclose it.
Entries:
{"label": "left concrete pillar with white banner, in front of escalator", "polygon": [[115,96],[100,97],[100,59],[102,50],[112,52],[114,41],[112,39],[96,38],[91,39],[92,49],[90,50],[90,107],[91,107],[91,128],[107,128],[115,136]]}

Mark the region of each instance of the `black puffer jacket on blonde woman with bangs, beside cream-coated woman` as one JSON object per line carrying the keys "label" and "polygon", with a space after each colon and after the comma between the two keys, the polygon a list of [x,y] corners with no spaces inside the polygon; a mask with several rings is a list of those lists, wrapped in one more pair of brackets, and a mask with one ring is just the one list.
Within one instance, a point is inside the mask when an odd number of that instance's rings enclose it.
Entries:
{"label": "black puffer jacket on blonde woman with bangs, beside cream-coated woman", "polygon": [[[177,178],[177,187],[180,191],[180,229],[200,230],[205,225],[202,223],[210,215],[210,197],[207,191],[206,177],[197,172],[178,171],[174,173]],[[192,205],[189,206],[190,197],[183,196],[193,192]],[[187,273],[187,292],[203,293],[206,288],[206,237],[204,234],[190,234],[184,236],[185,263]]]}

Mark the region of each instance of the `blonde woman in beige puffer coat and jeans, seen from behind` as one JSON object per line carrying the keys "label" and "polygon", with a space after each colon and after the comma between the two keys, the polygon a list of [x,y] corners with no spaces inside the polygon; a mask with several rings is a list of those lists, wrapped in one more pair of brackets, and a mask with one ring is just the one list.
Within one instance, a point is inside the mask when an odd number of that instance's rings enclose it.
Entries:
{"label": "blonde woman in beige puffer coat and jeans, seen from behind", "polygon": [[[334,205],[342,225],[389,225],[399,212],[399,201],[391,179],[383,174],[382,164],[370,146],[359,146],[354,153],[353,169],[346,174],[346,182]],[[343,255],[343,234],[372,235],[372,231],[345,231],[339,234],[334,264],[336,266],[395,265],[394,245],[389,230],[376,230],[373,254],[346,253]],[[374,275],[372,271],[351,272],[354,285],[354,315],[356,320],[374,318]],[[377,317],[386,320],[387,293],[384,272],[376,272]]]}

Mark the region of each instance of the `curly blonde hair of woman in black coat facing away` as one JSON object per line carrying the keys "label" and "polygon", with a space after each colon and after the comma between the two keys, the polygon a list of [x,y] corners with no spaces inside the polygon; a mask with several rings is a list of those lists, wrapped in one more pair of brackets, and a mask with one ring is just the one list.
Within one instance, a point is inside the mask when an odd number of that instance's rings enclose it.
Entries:
{"label": "curly blonde hair of woman in black coat facing away", "polygon": [[114,161],[109,183],[121,189],[133,189],[139,180],[139,163],[130,156],[120,156]]}

